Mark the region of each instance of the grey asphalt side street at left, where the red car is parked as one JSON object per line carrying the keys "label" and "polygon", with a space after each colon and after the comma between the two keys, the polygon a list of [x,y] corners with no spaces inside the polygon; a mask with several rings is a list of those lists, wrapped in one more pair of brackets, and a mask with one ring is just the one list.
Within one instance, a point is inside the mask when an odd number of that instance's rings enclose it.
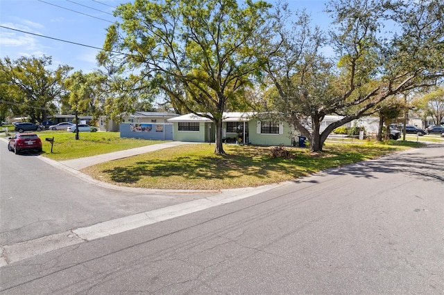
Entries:
{"label": "grey asphalt side street at left, where the red car is parked", "polygon": [[9,152],[0,140],[1,245],[214,195],[103,188],[41,158]]}

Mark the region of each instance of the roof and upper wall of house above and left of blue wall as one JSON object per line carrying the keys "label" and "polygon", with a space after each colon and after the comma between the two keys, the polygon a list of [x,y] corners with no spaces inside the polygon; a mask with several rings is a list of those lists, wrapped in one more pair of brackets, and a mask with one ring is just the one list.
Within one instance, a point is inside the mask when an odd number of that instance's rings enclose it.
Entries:
{"label": "roof and upper wall of house above and left of blue wall", "polygon": [[[123,116],[121,123],[167,123],[169,118],[180,116],[175,113],[157,111],[135,111],[134,114]],[[99,130],[120,131],[120,123],[106,116],[99,118]]]}

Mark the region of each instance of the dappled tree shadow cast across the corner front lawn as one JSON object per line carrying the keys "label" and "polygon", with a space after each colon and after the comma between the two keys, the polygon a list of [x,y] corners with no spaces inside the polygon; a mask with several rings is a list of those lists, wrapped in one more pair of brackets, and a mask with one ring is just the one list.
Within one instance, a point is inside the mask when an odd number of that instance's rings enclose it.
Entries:
{"label": "dappled tree shadow cast across the corner front lawn", "polygon": [[[111,181],[121,184],[135,184],[146,177],[180,177],[193,181],[224,179],[234,181],[239,177],[255,179],[258,182],[278,182],[297,179],[327,168],[337,167],[368,159],[362,152],[331,151],[310,154],[307,150],[291,149],[293,159],[271,157],[265,147],[248,147],[230,151],[227,154],[207,154],[203,157],[183,155],[173,161],[151,159],[138,161],[129,166],[117,166],[103,170]],[[276,181],[273,181],[275,179]]]}

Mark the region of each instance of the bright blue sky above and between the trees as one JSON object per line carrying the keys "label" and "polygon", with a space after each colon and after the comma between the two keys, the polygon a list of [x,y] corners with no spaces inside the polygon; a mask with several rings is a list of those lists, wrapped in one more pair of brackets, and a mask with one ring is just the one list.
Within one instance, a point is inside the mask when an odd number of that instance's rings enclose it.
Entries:
{"label": "bright blue sky above and between the trees", "polygon": [[[311,14],[314,24],[327,26],[324,0],[287,0],[292,9]],[[0,57],[52,57],[53,67],[67,64],[74,71],[99,69],[96,54],[106,28],[117,19],[114,8],[126,0],[1,0]],[[275,0],[268,1],[275,3]],[[6,27],[6,28],[5,28]],[[13,30],[12,30],[13,29]],[[43,35],[46,37],[40,37]],[[50,37],[52,39],[49,39]],[[76,44],[83,44],[80,46]],[[92,48],[94,47],[94,48]]]}

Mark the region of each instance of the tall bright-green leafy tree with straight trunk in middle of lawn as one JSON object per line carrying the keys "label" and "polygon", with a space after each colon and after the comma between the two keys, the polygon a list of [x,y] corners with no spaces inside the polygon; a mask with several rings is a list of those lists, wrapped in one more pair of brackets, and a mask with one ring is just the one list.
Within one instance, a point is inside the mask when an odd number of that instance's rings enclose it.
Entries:
{"label": "tall bright-green leafy tree with straight trunk in middle of lawn", "polygon": [[264,62],[269,7],[250,0],[243,6],[236,0],[135,0],[114,12],[123,21],[108,28],[108,51],[99,60],[137,69],[176,109],[210,118],[215,152],[223,153],[223,111],[244,106],[244,89]]}

